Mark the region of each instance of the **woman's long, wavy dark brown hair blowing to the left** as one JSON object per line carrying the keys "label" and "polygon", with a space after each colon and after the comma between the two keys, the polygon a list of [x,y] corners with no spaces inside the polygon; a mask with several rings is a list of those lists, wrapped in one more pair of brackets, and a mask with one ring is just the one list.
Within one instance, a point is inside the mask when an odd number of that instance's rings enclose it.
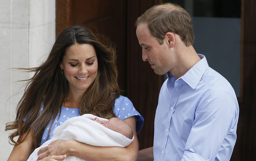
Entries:
{"label": "woman's long, wavy dark brown hair blowing to the left", "polygon": [[[59,34],[42,65],[35,68],[17,68],[35,74],[26,80],[28,82],[24,95],[17,105],[15,121],[6,123],[5,130],[15,130],[9,135],[11,144],[20,144],[23,141],[21,137],[17,141],[14,137],[22,136],[30,130],[34,146],[40,146],[47,124],[52,119],[52,125],[68,95],[68,82],[61,74],[60,63],[66,49],[75,43],[93,45],[98,59],[98,74],[84,93],[79,106],[80,114],[91,113],[107,119],[115,117],[112,108],[114,100],[120,95],[115,49],[108,39],[96,37],[88,28],[71,26]],[[44,110],[39,115],[42,105]]]}

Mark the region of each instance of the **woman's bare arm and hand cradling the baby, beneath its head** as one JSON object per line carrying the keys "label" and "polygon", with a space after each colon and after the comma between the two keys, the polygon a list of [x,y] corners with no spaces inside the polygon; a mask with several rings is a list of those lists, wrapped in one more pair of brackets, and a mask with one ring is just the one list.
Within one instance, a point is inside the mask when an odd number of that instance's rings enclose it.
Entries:
{"label": "woman's bare arm and hand cradling the baby, beneath its head", "polygon": [[135,116],[125,119],[133,129],[134,140],[127,147],[100,147],[84,144],[75,140],[56,140],[41,148],[39,159],[50,155],[73,155],[84,160],[136,160],[138,156],[138,139],[136,135]]}

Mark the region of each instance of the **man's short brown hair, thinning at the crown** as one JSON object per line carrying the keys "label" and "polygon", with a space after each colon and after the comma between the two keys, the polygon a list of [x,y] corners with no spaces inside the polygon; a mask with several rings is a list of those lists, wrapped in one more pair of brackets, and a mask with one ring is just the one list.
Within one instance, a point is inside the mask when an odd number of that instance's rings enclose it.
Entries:
{"label": "man's short brown hair, thinning at the crown", "polygon": [[192,20],[188,12],[179,5],[155,5],[138,17],[135,26],[142,23],[148,25],[150,33],[158,39],[159,44],[163,44],[167,32],[178,34],[187,47],[194,44]]}

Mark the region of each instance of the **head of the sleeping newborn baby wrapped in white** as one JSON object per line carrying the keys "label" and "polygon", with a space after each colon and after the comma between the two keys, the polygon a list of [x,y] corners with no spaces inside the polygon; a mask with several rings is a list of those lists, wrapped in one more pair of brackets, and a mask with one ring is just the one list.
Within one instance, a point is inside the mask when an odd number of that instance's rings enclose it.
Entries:
{"label": "head of the sleeping newborn baby wrapped in white", "polygon": [[113,117],[108,121],[103,120],[101,124],[110,130],[126,136],[129,139],[132,139],[133,137],[132,127],[127,122],[119,118]]}

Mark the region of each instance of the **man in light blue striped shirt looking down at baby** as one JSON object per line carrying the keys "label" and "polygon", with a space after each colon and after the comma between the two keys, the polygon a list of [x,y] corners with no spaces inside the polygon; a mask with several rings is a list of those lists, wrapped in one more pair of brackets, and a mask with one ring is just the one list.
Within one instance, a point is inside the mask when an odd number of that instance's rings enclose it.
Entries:
{"label": "man in light blue striped shirt looking down at baby", "polygon": [[138,160],[230,160],[237,138],[236,94],[194,50],[189,14],[166,3],[148,9],[135,26],[143,61],[168,77],[159,93],[154,145],[139,151]]}

